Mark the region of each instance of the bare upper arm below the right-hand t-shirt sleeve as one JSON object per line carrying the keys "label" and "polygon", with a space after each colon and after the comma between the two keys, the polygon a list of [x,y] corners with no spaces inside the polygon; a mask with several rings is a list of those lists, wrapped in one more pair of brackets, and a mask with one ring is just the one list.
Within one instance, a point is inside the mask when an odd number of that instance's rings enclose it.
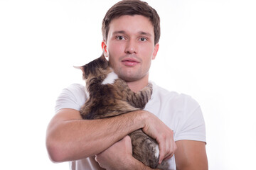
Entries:
{"label": "bare upper arm below the right-hand t-shirt sleeve", "polygon": [[176,141],[177,170],[208,170],[206,143],[193,140]]}

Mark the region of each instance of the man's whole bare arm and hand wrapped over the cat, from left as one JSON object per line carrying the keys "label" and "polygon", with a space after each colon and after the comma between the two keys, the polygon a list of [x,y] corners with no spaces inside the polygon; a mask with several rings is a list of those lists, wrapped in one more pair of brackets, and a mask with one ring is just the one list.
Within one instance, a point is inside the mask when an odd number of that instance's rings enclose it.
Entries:
{"label": "man's whole bare arm and hand wrapped over the cat, from left", "polygon": [[[166,146],[166,139],[171,138],[171,130],[156,116],[146,111],[98,120],[82,120],[79,111],[60,109],[48,125],[46,147],[53,162],[83,159],[99,154],[140,128],[161,142],[162,157],[173,154],[174,151]],[[160,137],[159,132],[162,134]]]}

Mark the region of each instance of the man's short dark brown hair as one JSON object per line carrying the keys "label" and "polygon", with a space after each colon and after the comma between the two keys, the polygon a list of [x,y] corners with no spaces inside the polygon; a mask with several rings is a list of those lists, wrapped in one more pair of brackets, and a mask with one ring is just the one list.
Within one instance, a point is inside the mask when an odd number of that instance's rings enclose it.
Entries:
{"label": "man's short dark brown hair", "polygon": [[110,23],[113,19],[120,16],[134,16],[141,15],[149,18],[154,26],[154,44],[159,42],[160,39],[160,18],[156,10],[149,6],[144,1],[140,0],[123,0],[114,4],[106,13],[105,18],[102,21],[102,35],[103,40],[107,41],[107,35],[110,30]]}

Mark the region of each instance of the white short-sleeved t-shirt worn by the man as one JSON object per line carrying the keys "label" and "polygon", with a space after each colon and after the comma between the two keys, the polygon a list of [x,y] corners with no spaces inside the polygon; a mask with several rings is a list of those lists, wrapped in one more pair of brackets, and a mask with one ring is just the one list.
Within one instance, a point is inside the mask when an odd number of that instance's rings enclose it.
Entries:
{"label": "white short-sleeved t-shirt worn by the man", "polygon": [[[206,142],[206,127],[203,114],[198,103],[185,94],[177,94],[174,91],[153,84],[153,94],[144,110],[156,115],[171,130],[174,130],[174,140],[196,140]],[[80,110],[85,103],[87,94],[85,86],[72,84],[58,97],[55,112],[61,108],[73,108]],[[176,170],[175,156],[169,159],[171,170]],[[94,158],[80,159],[70,162],[71,170],[96,170],[100,166]]]}

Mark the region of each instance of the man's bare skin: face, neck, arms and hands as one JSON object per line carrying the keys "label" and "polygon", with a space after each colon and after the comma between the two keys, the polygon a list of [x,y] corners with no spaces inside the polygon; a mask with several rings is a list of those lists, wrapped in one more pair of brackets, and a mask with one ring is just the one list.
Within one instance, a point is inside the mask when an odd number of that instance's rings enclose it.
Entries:
{"label": "man's bare skin: face, neck, arms and hands", "polygon": [[[102,50],[105,57],[109,57],[114,72],[127,81],[130,89],[135,92],[148,84],[151,60],[156,57],[158,49],[159,44],[154,45],[154,28],[144,16],[121,16],[114,19],[110,23],[107,41],[102,41]],[[159,142],[159,162],[173,156],[177,149],[173,131],[147,111],[101,120],[82,120],[79,111],[60,109],[48,125],[46,147],[53,162],[96,155],[96,161],[104,169],[150,169],[132,157],[132,146],[127,137],[130,132],[140,128]],[[193,142],[178,141],[177,146],[178,169],[196,167],[202,157],[207,163],[203,152],[204,143],[194,145]],[[191,158],[191,155],[195,156],[194,153],[198,159]],[[202,164],[205,167],[206,164]]]}

